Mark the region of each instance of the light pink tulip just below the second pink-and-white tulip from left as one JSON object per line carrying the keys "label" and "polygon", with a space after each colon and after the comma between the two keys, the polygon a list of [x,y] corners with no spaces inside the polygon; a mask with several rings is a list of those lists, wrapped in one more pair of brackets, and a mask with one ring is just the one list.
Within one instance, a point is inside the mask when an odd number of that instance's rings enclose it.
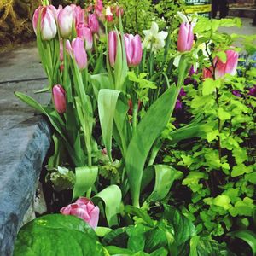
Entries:
{"label": "light pink tulip just below the second pink-and-white tulip from left", "polygon": [[67,52],[73,56],[80,70],[87,66],[87,54],[82,38],[74,38],[71,44],[69,40],[67,40],[66,49]]}

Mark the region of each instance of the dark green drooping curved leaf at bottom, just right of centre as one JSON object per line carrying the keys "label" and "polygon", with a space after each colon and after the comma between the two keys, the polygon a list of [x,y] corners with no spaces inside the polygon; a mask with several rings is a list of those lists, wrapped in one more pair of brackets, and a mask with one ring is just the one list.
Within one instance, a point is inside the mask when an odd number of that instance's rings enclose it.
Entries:
{"label": "dark green drooping curved leaf at bottom, just right of centre", "polygon": [[175,244],[177,247],[181,246],[185,241],[195,236],[195,226],[189,220],[178,212],[174,207],[165,205],[165,212],[163,219],[168,220],[174,229]]}

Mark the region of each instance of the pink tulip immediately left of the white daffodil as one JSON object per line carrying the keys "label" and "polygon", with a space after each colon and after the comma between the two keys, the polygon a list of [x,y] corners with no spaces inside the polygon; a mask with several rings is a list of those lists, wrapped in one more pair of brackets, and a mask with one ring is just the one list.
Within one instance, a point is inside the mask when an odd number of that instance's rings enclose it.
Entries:
{"label": "pink tulip immediately left of the white daffodil", "polygon": [[143,46],[139,35],[124,35],[126,59],[129,67],[135,67],[140,64],[143,56]]}

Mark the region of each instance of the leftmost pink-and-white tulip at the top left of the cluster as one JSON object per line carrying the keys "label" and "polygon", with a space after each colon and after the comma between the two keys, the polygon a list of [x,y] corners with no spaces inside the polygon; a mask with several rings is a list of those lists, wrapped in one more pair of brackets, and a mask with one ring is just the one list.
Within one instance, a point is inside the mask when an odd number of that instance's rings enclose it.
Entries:
{"label": "leftmost pink-and-white tulip at the top left of the cluster", "polygon": [[40,32],[43,40],[50,40],[52,38],[55,38],[55,35],[57,33],[55,12],[56,9],[52,5],[39,6],[38,9],[35,10],[32,19],[33,29],[34,32],[37,34],[38,20],[39,16],[41,15]]}

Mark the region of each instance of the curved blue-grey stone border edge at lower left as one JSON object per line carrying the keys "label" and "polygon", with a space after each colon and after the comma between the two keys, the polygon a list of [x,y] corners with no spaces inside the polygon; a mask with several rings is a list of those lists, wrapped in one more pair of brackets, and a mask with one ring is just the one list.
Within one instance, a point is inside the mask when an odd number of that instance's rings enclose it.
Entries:
{"label": "curved blue-grey stone border edge at lower left", "polygon": [[50,128],[41,117],[0,130],[0,255],[12,255],[15,237],[31,204],[50,145]]}

